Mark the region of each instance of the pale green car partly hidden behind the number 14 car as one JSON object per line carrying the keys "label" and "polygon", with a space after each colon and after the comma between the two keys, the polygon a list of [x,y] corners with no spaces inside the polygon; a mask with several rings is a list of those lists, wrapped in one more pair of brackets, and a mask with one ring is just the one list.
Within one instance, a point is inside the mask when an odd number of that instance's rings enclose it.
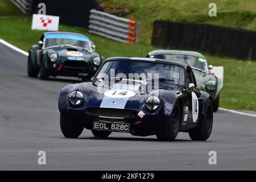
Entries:
{"label": "pale green car partly hidden behind the number 14 car", "polygon": [[213,67],[207,63],[205,57],[194,51],[154,50],[147,57],[182,61],[190,65],[196,77],[197,88],[210,95],[213,111],[218,110],[220,104],[220,90],[223,85],[223,67]]}

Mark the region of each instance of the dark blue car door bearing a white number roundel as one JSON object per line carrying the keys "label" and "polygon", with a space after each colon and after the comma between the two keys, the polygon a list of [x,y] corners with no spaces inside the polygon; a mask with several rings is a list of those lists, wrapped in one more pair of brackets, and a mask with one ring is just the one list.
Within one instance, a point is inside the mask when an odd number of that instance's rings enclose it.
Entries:
{"label": "dark blue car door bearing a white number roundel", "polygon": [[[194,88],[189,88],[189,84],[194,84]],[[199,100],[201,94],[196,87],[195,76],[191,68],[187,68],[186,73],[186,86],[187,86],[187,110],[188,110],[188,124],[197,123],[199,120]]]}

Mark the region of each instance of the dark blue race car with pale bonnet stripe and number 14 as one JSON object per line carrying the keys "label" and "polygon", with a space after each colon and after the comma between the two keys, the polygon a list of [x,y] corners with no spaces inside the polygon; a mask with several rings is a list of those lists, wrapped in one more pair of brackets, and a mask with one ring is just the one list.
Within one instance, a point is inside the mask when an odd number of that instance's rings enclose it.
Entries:
{"label": "dark blue race car with pale bonnet stripe and number 14", "polygon": [[172,60],[109,58],[91,82],[61,90],[59,110],[68,138],[79,137],[85,127],[95,137],[115,131],[174,140],[188,132],[192,140],[207,140],[213,125],[209,94],[197,89],[188,64]]}

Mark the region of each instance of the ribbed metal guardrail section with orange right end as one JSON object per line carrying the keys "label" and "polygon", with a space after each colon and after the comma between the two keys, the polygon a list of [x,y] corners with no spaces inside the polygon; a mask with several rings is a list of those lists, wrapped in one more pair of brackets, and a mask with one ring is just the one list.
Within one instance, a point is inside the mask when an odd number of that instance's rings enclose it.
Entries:
{"label": "ribbed metal guardrail section with orange right end", "polygon": [[135,44],[139,41],[138,22],[102,11],[90,10],[89,32],[118,42]]}

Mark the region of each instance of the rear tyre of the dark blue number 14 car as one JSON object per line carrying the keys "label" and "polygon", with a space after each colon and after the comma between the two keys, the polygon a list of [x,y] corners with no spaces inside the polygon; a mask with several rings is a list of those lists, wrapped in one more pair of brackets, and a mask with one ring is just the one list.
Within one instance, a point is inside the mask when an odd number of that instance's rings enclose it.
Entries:
{"label": "rear tyre of the dark blue number 14 car", "polygon": [[207,101],[207,109],[205,110],[203,121],[199,121],[199,124],[192,130],[190,130],[189,137],[192,140],[205,141],[210,137],[212,133],[213,126],[213,105],[212,101],[209,99]]}

